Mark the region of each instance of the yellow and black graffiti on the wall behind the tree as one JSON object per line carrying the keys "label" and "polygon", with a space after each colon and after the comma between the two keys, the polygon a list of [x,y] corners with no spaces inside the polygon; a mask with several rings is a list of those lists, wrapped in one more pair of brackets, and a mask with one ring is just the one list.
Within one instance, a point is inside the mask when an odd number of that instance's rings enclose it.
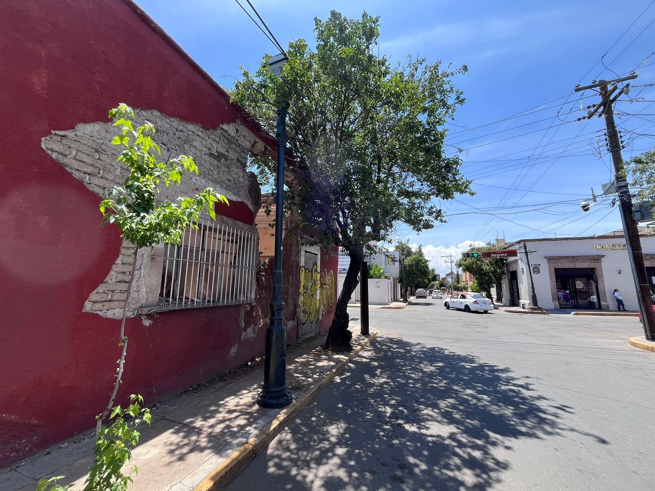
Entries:
{"label": "yellow and black graffiti on the wall behind the tree", "polygon": [[318,272],[314,266],[300,266],[300,323],[316,324],[334,305],[335,282],[332,270]]}

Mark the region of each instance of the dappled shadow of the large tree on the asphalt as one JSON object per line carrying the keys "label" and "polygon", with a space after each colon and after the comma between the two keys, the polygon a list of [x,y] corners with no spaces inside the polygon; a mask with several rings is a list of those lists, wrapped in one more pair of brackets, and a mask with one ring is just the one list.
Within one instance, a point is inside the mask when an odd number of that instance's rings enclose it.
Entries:
{"label": "dappled shadow of the large tree on the asphalt", "polygon": [[563,424],[571,412],[508,368],[379,337],[229,489],[265,472],[271,489],[489,490],[514,441],[578,433],[608,444]]}

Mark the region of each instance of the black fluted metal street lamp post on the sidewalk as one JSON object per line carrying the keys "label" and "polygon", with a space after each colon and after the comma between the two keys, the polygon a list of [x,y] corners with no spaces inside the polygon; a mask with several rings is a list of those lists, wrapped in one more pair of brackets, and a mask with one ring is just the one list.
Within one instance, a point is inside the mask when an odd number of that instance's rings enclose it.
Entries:
{"label": "black fluted metal street lamp post on the sidewalk", "polygon": [[[277,55],[271,58],[269,66],[276,72],[287,58]],[[284,220],[284,149],[286,147],[286,114],[289,103],[278,107],[278,168],[275,202],[275,270],[273,272],[273,297],[271,299],[271,321],[266,330],[266,352],[264,357],[264,384],[257,396],[257,405],[278,408],[290,405],[293,397],[286,383],[286,328],[284,327],[284,300],[282,297],[282,221]]]}

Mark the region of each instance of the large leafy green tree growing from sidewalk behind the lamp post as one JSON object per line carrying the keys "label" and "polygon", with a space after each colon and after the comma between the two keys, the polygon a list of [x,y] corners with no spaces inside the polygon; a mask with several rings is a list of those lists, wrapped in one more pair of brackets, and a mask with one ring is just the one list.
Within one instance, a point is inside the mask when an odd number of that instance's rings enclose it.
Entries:
{"label": "large leafy green tree growing from sidewalk behind the lamp post", "polygon": [[[379,55],[379,18],[365,12],[352,20],[332,11],[314,23],[314,50],[303,39],[291,42],[280,77],[265,67],[254,74],[244,69],[233,100],[270,132],[276,106],[290,105],[289,170],[297,189],[286,196],[318,242],[350,256],[325,344],[349,350],[348,300],[369,242],[390,240],[399,222],[415,231],[432,228],[444,221],[443,211],[426,203],[471,192],[460,157],[443,149],[445,123],[464,103],[451,78],[466,66],[443,68],[422,58],[392,66]],[[272,175],[271,160],[255,165],[260,175]]]}

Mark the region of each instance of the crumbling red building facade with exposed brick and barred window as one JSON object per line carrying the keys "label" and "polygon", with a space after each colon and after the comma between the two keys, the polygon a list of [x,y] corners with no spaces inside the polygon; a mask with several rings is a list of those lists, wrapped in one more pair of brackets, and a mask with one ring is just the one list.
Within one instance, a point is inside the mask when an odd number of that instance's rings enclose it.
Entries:
{"label": "crumbling red building facade with exposed brick and barred window", "polygon": [[[116,403],[140,393],[150,405],[263,354],[272,261],[257,254],[261,191],[246,166],[276,143],[130,0],[9,0],[0,46],[1,466],[95,426],[135,263]],[[198,164],[162,198],[212,187],[229,199],[181,245],[136,257],[98,209],[126,175],[107,118],[121,102],[155,124],[162,160]],[[338,259],[326,252],[310,267],[285,237],[288,342],[329,326]]]}

